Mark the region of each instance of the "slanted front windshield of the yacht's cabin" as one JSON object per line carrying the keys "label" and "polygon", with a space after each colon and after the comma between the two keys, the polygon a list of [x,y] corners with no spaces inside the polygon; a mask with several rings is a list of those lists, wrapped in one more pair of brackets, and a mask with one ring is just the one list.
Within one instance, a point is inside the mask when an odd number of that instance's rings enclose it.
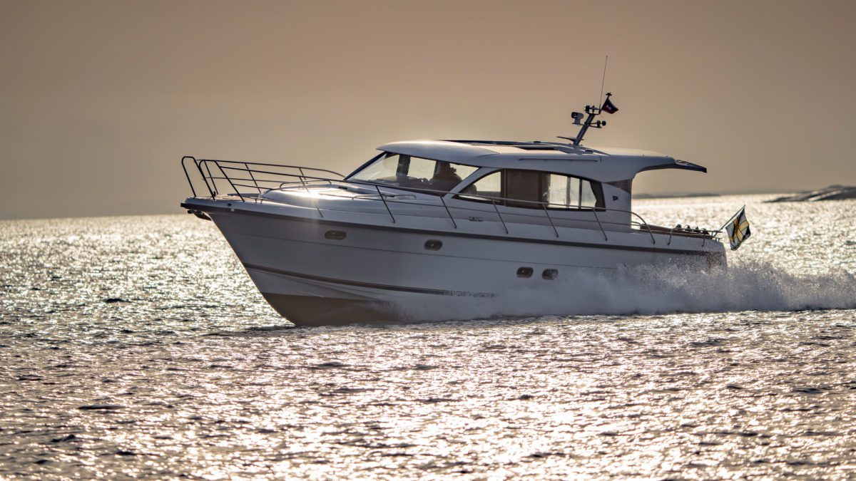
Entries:
{"label": "slanted front windshield of the yacht's cabin", "polygon": [[386,153],[348,180],[448,192],[477,169],[461,163]]}

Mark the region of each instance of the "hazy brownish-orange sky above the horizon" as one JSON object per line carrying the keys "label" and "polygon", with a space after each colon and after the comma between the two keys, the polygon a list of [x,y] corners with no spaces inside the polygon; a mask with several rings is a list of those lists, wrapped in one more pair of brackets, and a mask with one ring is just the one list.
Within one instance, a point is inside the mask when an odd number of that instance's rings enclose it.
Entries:
{"label": "hazy brownish-orange sky above the horizon", "polygon": [[349,171],[408,139],[662,151],[634,192],[856,184],[856,2],[0,0],[0,218],[180,211],[182,155]]}

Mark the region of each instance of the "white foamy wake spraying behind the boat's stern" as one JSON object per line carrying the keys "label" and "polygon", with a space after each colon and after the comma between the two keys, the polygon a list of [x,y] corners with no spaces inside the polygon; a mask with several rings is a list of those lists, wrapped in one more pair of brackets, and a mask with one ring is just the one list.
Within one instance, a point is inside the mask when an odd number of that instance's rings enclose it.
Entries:
{"label": "white foamy wake spraying behind the boat's stern", "polygon": [[846,271],[800,275],[757,261],[711,272],[680,265],[576,270],[494,298],[396,306],[402,317],[422,320],[819,309],[856,309],[856,277]]}

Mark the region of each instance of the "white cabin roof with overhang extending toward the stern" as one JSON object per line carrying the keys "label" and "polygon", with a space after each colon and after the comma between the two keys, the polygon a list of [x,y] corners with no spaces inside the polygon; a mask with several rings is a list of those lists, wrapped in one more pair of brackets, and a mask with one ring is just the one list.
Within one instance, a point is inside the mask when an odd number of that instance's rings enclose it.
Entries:
{"label": "white cabin roof with overhang extending toward the stern", "polygon": [[633,179],[639,172],[653,169],[707,172],[700,165],[655,151],[556,142],[409,140],[381,145],[377,150],[476,167],[545,170],[603,182]]}

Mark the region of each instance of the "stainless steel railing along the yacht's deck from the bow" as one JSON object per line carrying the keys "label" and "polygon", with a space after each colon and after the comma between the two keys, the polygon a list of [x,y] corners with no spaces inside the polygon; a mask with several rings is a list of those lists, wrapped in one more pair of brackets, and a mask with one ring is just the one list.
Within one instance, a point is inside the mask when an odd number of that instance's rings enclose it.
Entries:
{"label": "stainless steel railing along the yacht's deck from the bow", "polygon": [[[294,188],[300,188],[301,190],[305,190],[306,193],[310,193],[310,187],[320,187],[320,186],[340,186],[342,182],[346,182],[344,175],[339,174],[333,170],[328,169],[316,169],[312,167],[304,167],[298,165],[286,165],[286,164],[278,164],[278,163],[257,163],[257,162],[245,162],[245,161],[232,161],[232,160],[217,160],[217,159],[197,159],[195,157],[185,156],[181,158],[181,167],[184,169],[184,175],[187,177],[187,183],[190,185],[191,191],[193,192],[193,197],[199,197],[196,192],[196,187],[193,186],[193,181],[191,180],[191,176],[187,170],[187,161],[191,161],[193,163],[193,167],[199,173],[199,179],[204,182],[205,189],[210,194],[211,199],[216,199],[217,195],[236,195],[241,201],[253,201],[253,202],[265,202],[270,201],[269,199],[263,199],[260,196],[263,193],[270,191],[286,191],[292,190]],[[251,167],[253,166],[253,167]],[[212,173],[213,168],[213,173]],[[307,174],[309,172],[310,174]],[[219,173],[219,175],[216,175]],[[318,175],[312,175],[318,173]],[[332,174],[336,175],[339,178],[331,178],[329,176],[322,176],[324,174]],[[244,176],[241,176],[244,175]],[[222,185],[223,182],[228,184],[231,193],[221,194],[220,186],[218,186],[217,181],[220,181]],[[357,185],[366,187],[366,189],[371,189],[375,191],[375,193],[371,194],[363,194],[363,195],[348,195],[348,199],[369,199],[369,200],[379,200],[383,203],[384,210],[387,211],[390,220],[392,223],[396,223],[395,215],[393,214],[393,210],[390,208],[390,204],[406,204],[406,205],[425,205],[430,207],[441,207],[445,211],[446,215],[449,216],[449,220],[452,222],[452,225],[455,229],[458,229],[458,223],[455,221],[455,217],[452,215],[452,212],[449,210],[449,205],[446,204],[444,197],[451,193],[449,191],[435,190],[435,189],[427,189],[421,187],[398,187],[398,186],[388,186],[383,183],[378,182],[367,182],[367,181],[353,181],[348,180],[348,184]],[[252,189],[257,191],[256,194],[251,193],[241,193],[239,187],[243,187],[246,189]],[[437,199],[440,200],[440,205],[437,204],[428,204],[425,202],[413,201],[411,199],[397,199],[401,198],[401,194],[397,193],[384,193],[381,191],[381,187],[393,188],[396,191],[406,191],[413,193],[428,193],[431,195],[437,196]],[[531,200],[520,200],[520,199],[509,199],[503,197],[495,197],[489,195],[482,195],[477,193],[454,193],[455,195],[466,195],[467,198],[475,198],[479,199],[481,202],[488,203],[493,207],[493,213],[496,214],[497,219],[500,223],[502,223],[502,229],[505,230],[505,233],[508,235],[508,224],[502,218],[502,213],[499,211],[498,205],[505,205],[507,201],[513,201],[515,204],[528,204],[532,205],[532,210],[539,212],[538,215],[535,214],[527,214],[521,212],[510,213],[507,212],[508,215],[513,215],[514,217],[533,217],[542,220],[546,220],[547,223],[550,224],[550,227],[553,229],[556,238],[559,238],[559,230],[556,228],[556,223],[554,223],[553,217],[550,216],[550,209],[558,209],[561,208],[563,211],[567,210],[567,207],[560,204],[554,204],[550,202],[538,202]],[[346,196],[339,196],[335,193],[324,193],[325,197],[341,197],[346,198]],[[318,211],[318,215],[320,217],[324,217],[324,212],[318,205],[317,199],[312,199],[315,209]],[[484,211],[483,209],[478,209],[475,207],[462,207],[455,206],[455,210],[460,211],[475,211],[475,212],[490,212]],[[561,219],[566,222],[574,222],[574,223],[597,223],[597,227],[600,229],[601,234],[603,235],[604,241],[609,241],[609,237],[606,234],[607,230],[604,229],[603,224],[612,224],[616,226],[621,226],[623,228],[627,228],[626,223],[615,223],[609,220],[601,220],[600,217],[597,216],[597,212],[618,212],[622,214],[629,214],[631,217],[630,227],[636,227],[641,231],[646,231],[648,235],[651,237],[651,243],[657,244],[657,240],[654,237],[654,229],[651,229],[651,225],[645,222],[645,219],[639,216],[636,212],[633,211],[623,211],[619,209],[608,209],[603,207],[594,207],[594,208],[582,208],[580,211],[587,211],[593,214],[594,220],[591,219]],[[540,215],[540,212],[544,212],[544,215]],[[639,222],[633,220],[633,218],[639,219]],[[657,234],[667,234],[667,228],[656,228]],[[669,238],[666,242],[666,245],[669,246],[672,242],[672,238],[675,235],[679,235],[681,237],[695,237],[699,238],[702,241],[702,246],[704,246],[705,241],[709,240],[718,240],[719,235],[721,235],[721,230],[716,231],[708,231],[704,229],[678,229],[672,228],[668,230]]]}

